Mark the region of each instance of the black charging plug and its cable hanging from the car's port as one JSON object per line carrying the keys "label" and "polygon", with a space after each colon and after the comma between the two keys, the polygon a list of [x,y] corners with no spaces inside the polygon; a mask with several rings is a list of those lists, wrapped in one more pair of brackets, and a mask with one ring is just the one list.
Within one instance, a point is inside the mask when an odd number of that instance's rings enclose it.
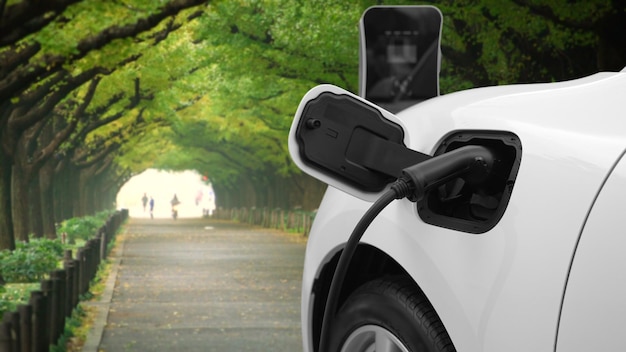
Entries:
{"label": "black charging plug and its cable hanging from the car's port", "polygon": [[337,313],[341,285],[361,237],[378,214],[395,199],[407,198],[415,202],[432,187],[454,177],[462,177],[470,183],[485,182],[489,178],[494,159],[493,153],[488,148],[468,145],[402,170],[402,176],[390,185],[359,220],[339,257],[324,308],[320,344],[317,349],[319,352],[334,352],[330,350],[329,332],[331,321]]}

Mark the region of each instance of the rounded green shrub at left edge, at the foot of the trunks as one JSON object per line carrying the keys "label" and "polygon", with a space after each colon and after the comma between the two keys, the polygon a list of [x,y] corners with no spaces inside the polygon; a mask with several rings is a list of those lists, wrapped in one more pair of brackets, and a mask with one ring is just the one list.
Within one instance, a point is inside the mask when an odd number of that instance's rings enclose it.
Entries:
{"label": "rounded green shrub at left edge, at the foot of the trunks", "polygon": [[18,242],[14,251],[0,251],[0,274],[6,282],[36,282],[56,269],[63,258],[59,240],[31,238]]}

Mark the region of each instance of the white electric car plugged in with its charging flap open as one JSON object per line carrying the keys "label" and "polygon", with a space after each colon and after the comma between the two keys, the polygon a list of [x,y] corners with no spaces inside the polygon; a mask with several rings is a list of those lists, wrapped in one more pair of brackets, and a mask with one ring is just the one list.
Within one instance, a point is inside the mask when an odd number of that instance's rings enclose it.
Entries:
{"label": "white electric car plugged in with its charging flap open", "polygon": [[[330,185],[306,250],[305,351],[626,349],[626,69],[396,115],[318,86],[289,147]],[[446,166],[464,148],[490,160]],[[403,177],[409,199],[363,225]]]}

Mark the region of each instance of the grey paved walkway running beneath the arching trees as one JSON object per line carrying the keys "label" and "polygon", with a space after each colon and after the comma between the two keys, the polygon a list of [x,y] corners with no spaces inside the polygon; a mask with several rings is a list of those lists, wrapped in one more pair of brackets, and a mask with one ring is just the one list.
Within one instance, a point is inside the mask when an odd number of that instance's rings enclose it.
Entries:
{"label": "grey paved walkway running beneath the arching trees", "polygon": [[131,219],[84,352],[302,350],[298,235]]}

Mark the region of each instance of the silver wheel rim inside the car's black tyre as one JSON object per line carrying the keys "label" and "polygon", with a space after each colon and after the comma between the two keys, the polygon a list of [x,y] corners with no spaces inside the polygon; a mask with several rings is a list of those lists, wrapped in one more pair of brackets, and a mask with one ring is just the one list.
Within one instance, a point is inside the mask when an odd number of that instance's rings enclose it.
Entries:
{"label": "silver wheel rim inside the car's black tyre", "polygon": [[341,352],[410,352],[389,330],[378,325],[364,325],[346,339]]}

